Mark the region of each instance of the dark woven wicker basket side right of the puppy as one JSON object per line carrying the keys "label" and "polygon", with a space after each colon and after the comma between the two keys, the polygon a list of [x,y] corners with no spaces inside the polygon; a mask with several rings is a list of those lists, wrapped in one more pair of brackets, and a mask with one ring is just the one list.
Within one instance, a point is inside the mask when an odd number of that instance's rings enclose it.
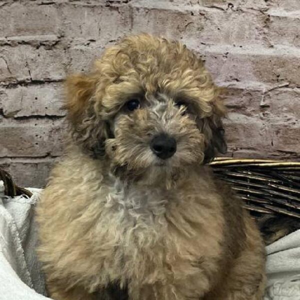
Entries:
{"label": "dark woven wicker basket side right of the puppy", "polygon": [[253,215],[288,215],[300,221],[300,162],[217,158],[210,165]]}

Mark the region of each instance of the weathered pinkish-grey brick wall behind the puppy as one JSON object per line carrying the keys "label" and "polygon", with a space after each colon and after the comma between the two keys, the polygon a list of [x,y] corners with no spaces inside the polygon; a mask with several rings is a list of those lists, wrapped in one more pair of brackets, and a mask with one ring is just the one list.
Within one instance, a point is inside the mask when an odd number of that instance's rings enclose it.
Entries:
{"label": "weathered pinkish-grey brick wall behind the puppy", "polygon": [[181,39],[228,87],[228,155],[299,159],[299,0],[0,0],[0,165],[18,184],[61,155],[65,74],[140,31]]}

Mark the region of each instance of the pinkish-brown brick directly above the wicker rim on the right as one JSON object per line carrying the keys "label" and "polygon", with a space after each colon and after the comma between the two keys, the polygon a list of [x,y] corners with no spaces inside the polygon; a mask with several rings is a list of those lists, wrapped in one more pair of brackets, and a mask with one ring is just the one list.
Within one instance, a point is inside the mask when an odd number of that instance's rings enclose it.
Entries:
{"label": "pinkish-brown brick directly above the wicker rim on the right", "polygon": [[298,122],[231,112],[224,125],[230,156],[300,158]]}

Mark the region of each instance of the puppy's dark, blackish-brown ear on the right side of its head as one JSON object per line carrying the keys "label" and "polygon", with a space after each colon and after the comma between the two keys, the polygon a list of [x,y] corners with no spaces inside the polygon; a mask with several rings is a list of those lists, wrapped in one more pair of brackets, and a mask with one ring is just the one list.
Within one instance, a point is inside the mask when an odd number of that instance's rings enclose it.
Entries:
{"label": "puppy's dark, blackish-brown ear on the right side of its head", "polygon": [[216,99],[212,108],[213,114],[202,122],[202,131],[205,136],[204,163],[211,161],[217,152],[225,154],[227,144],[222,118],[226,115],[226,107],[221,99]]}

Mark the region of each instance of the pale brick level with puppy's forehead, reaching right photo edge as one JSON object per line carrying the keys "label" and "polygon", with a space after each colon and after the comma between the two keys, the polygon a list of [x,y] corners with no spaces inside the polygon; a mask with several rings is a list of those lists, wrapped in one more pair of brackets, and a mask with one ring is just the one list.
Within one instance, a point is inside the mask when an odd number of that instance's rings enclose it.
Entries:
{"label": "pale brick level with puppy's forehead, reaching right photo edge", "polygon": [[206,66],[218,81],[287,82],[300,85],[300,49],[276,45],[234,47],[228,45],[200,46]]}

